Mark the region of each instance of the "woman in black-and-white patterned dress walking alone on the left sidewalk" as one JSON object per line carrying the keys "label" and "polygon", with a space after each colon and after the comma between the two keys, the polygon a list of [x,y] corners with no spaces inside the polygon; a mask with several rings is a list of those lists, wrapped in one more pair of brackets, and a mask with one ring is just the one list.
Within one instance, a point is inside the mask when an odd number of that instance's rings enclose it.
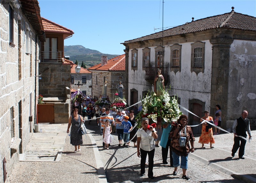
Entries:
{"label": "woman in black-and-white patterned dress walking alone on the left sidewalk", "polygon": [[82,116],[78,114],[78,110],[78,107],[75,107],[73,115],[69,117],[67,130],[67,133],[69,133],[69,128],[72,124],[70,131],[70,143],[75,146],[74,153],[79,152],[81,150],[80,145],[83,144],[83,137],[79,133],[81,128]]}

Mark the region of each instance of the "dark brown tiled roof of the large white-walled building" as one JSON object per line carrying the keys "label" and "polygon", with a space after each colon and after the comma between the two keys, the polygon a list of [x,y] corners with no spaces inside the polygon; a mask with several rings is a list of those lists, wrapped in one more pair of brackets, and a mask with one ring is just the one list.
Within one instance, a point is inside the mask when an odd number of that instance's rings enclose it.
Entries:
{"label": "dark brown tiled roof of the large white-walled building", "polygon": [[214,29],[218,27],[256,31],[256,18],[249,15],[236,13],[234,10],[232,10],[230,13],[202,18],[196,21],[186,23],[181,26],[164,30],[163,32],[161,31],[161,32],[143,36],[137,39],[128,40],[128,41],[125,41],[124,43],[159,39],[159,38],[162,38],[162,36],[169,37],[169,36],[180,35],[180,34],[195,33],[195,32]]}

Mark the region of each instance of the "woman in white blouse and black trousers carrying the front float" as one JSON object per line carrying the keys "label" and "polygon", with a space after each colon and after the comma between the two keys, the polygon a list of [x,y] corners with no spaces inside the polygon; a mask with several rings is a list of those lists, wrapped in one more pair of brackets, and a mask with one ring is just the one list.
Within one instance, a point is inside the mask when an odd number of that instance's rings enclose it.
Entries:
{"label": "woman in white blouse and black trousers carrying the front float", "polygon": [[145,163],[148,154],[148,178],[153,177],[155,144],[157,139],[155,128],[148,125],[148,118],[141,118],[141,128],[137,133],[137,156],[140,157],[140,176],[145,173]]}

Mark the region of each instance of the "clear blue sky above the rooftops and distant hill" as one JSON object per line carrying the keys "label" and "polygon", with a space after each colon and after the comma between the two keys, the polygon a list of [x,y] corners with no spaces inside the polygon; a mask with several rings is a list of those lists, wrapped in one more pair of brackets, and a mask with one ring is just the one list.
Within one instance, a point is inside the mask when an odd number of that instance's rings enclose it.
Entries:
{"label": "clear blue sky above the rooftops and distant hill", "polygon": [[[126,40],[159,32],[162,0],[38,0],[41,16],[75,34],[65,46],[124,54]],[[256,0],[164,0],[164,27],[234,11],[256,17]]]}

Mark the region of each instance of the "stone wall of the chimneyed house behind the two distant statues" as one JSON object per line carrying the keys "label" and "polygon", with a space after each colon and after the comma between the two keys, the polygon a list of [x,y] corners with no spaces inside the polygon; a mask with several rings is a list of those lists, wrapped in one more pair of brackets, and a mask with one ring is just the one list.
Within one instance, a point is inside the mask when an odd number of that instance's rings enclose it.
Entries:
{"label": "stone wall of the chimneyed house behind the two distant statues", "polygon": [[[96,82],[96,77],[98,80],[97,82]],[[108,82],[107,96],[109,97],[110,102],[113,102],[114,94],[118,92],[117,86],[120,81],[124,85],[123,97],[126,95],[124,71],[111,71],[111,72],[92,71],[92,97],[99,98],[100,95],[102,94],[104,77],[105,77],[105,80]]]}

